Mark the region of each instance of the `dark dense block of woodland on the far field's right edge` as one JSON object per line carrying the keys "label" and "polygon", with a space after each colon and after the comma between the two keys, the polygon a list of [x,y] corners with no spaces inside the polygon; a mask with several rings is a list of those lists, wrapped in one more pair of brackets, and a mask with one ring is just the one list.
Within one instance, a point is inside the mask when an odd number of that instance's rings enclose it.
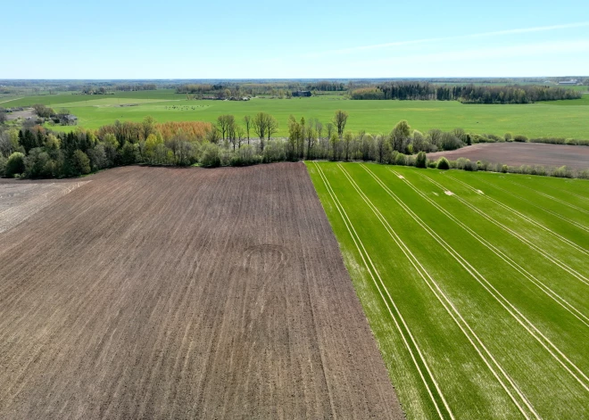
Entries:
{"label": "dark dense block of woodland on the far field's right edge", "polygon": [[427,82],[390,82],[354,89],[356,100],[460,101],[461,103],[535,103],[579,99],[581,93],[552,86],[439,86]]}

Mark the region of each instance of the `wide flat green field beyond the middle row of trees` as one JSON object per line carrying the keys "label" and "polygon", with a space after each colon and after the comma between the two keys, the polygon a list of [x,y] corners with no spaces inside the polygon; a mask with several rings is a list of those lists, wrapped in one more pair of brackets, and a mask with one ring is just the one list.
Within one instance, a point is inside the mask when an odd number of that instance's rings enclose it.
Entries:
{"label": "wide flat green field beyond the middle row of trees", "polygon": [[[350,114],[346,128],[353,131],[363,129],[373,134],[388,133],[399,120],[407,119],[411,128],[421,131],[460,127],[471,133],[499,136],[511,132],[530,137],[589,138],[589,95],[578,100],[554,103],[464,105],[453,101],[351,101],[340,95],[293,99],[254,98],[249,102],[187,101],[186,95],[175,94],[172,90],[156,90],[106,96],[28,96],[0,106],[33,103],[46,104],[55,111],[62,107],[68,108],[78,116],[79,126],[84,128],[98,128],[112,124],[116,119],[140,121],[147,115],[160,122],[214,121],[222,114],[234,114],[236,119],[241,120],[246,114],[266,111],[278,119],[278,136],[286,136],[286,121],[291,114],[297,118],[316,118],[325,125],[336,110],[343,109]],[[137,106],[120,106],[129,103],[137,103]],[[54,129],[71,130],[62,127]]]}

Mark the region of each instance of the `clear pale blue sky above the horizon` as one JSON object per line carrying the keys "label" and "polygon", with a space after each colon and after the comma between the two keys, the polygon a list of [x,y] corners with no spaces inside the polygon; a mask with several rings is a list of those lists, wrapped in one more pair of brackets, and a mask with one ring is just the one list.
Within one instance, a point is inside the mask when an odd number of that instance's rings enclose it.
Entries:
{"label": "clear pale blue sky above the horizon", "polygon": [[589,74],[589,1],[5,2],[0,78]]}

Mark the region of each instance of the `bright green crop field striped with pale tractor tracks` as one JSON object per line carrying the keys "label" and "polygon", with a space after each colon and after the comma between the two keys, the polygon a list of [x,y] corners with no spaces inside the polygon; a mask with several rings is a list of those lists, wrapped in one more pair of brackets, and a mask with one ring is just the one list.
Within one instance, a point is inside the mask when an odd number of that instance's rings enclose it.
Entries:
{"label": "bright green crop field striped with pale tractor tracks", "polygon": [[307,168],[410,418],[589,418],[589,182]]}

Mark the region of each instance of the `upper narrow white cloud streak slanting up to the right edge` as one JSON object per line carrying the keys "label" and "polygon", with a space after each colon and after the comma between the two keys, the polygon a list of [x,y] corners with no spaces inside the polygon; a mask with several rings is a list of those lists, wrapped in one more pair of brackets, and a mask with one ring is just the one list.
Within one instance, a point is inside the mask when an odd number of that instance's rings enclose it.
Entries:
{"label": "upper narrow white cloud streak slanting up to the right edge", "polygon": [[361,45],[361,46],[354,46],[351,48],[331,50],[331,51],[327,51],[327,52],[319,53],[319,54],[308,54],[308,55],[305,55],[305,57],[319,57],[319,56],[323,56],[326,54],[353,54],[353,53],[359,53],[362,51],[391,48],[394,46],[402,46],[402,45],[430,44],[430,43],[436,43],[436,42],[440,42],[440,41],[454,41],[457,39],[469,39],[469,38],[477,38],[477,37],[501,37],[504,35],[525,34],[525,33],[530,33],[530,32],[545,32],[545,31],[549,31],[549,30],[574,29],[574,28],[585,28],[585,27],[589,27],[589,21],[568,23],[568,24],[564,24],[564,25],[539,26],[539,27],[535,27],[535,28],[496,30],[493,32],[481,32],[478,34],[458,35],[458,36],[454,36],[454,37],[435,37],[435,38],[413,39],[413,40],[409,40],[409,41],[396,41],[396,42],[389,42],[386,44]]}

